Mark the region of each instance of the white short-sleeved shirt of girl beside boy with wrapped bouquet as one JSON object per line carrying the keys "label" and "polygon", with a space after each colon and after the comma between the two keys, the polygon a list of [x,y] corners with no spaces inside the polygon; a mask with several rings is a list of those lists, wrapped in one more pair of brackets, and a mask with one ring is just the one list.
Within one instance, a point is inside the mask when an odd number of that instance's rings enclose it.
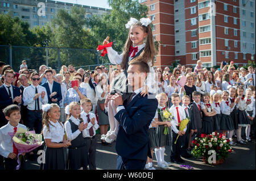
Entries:
{"label": "white short-sleeved shirt of girl beside boy with wrapped bouquet", "polygon": [[63,136],[64,136],[64,125],[62,123],[59,123],[57,121],[56,123],[53,123],[51,120],[49,120],[49,131],[47,130],[47,127],[43,127],[43,136],[44,139],[50,139],[51,142],[63,142]]}

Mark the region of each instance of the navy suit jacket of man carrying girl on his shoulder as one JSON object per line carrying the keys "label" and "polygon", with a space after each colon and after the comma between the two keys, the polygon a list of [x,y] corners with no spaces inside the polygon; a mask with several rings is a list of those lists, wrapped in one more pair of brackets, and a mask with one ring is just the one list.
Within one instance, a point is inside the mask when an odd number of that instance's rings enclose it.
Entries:
{"label": "navy suit jacket of man carrying girl on his shoulder", "polygon": [[123,102],[125,109],[115,115],[119,122],[115,150],[124,158],[151,158],[148,127],[155,117],[158,101],[139,93],[128,105],[126,103],[127,100]]}

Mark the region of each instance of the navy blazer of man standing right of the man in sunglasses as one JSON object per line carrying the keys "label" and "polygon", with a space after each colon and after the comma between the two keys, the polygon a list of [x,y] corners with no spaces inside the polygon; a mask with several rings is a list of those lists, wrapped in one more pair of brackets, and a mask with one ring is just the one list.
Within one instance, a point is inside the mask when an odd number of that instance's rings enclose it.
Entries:
{"label": "navy blazer of man standing right of the man in sunglasses", "polygon": [[42,85],[43,87],[46,87],[46,91],[47,91],[47,96],[48,96],[48,103],[56,103],[56,104],[60,104],[60,100],[62,99],[62,94],[61,94],[61,87],[60,84],[53,81],[53,86],[52,86],[52,92],[57,92],[57,94],[55,96],[52,96],[53,99],[57,98],[57,102],[52,102],[52,98],[49,97],[49,95],[51,95],[51,92],[49,90],[49,85],[48,85],[48,81],[46,81],[45,83],[43,83]]}

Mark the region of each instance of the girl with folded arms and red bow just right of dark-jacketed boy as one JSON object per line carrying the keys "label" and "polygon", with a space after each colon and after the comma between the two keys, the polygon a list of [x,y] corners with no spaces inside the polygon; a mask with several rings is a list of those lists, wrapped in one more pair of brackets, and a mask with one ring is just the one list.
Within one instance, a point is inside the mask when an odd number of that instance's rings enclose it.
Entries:
{"label": "girl with folded arms and red bow just right of dark-jacketed boy", "polygon": [[203,102],[201,104],[201,110],[203,113],[202,118],[202,133],[210,134],[214,132],[214,116],[216,115],[216,112],[212,105],[209,103],[210,100],[210,94],[204,93],[203,95]]}

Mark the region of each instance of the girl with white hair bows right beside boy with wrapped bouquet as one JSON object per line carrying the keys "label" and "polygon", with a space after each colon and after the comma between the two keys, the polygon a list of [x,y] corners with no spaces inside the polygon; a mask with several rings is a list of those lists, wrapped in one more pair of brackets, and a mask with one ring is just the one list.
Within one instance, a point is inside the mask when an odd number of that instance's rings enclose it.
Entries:
{"label": "girl with white hair bows right beside boy with wrapped bouquet", "polygon": [[43,136],[46,141],[46,157],[43,170],[64,170],[64,148],[71,145],[71,141],[64,137],[64,125],[59,121],[60,107],[57,104],[44,104]]}

